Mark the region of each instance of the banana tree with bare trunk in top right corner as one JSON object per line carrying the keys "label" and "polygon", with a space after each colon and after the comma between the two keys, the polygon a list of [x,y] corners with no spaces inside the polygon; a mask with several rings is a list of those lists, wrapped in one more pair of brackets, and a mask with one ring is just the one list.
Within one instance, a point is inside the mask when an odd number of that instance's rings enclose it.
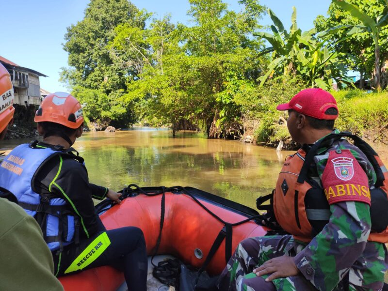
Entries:
{"label": "banana tree with bare trunk in top right corner", "polygon": [[337,4],[343,10],[348,11],[353,17],[360,21],[360,24],[353,26],[351,30],[347,32],[348,35],[352,35],[360,31],[368,31],[371,34],[374,42],[374,86],[377,91],[380,91],[381,83],[379,37],[381,29],[388,25],[388,0],[384,0],[386,7],[384,8],[383,14],[378,15],[375,19],[362,12],[357,6],[344,0],[333,0],[333,3]]}

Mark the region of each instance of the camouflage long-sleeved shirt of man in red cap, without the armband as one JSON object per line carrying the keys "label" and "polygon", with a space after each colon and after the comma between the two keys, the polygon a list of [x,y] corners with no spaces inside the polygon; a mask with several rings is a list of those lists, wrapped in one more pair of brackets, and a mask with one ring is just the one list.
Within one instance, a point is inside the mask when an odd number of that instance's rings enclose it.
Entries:
{"label": "camouflage long-sleeved shirt of man in red cap, without the armband", "polygon": [[[350,150],[366,172],[369,186],[373,187],[376,174],[372,164],[346,139],[317,152],[314,158],[317,175],[312,178],[321,185],[324,183],[322,175],[329,152],[338,149]],[[380,289],[387,269],[387,250],[384,244],[367,241],[371,230],[369,208],[368,204],[358,201],[331,204],[329,223],[296,255],[294,261],[298,269],[318,290],[335,289],[348,270],[349,282],[363,287],[360,290]]]}

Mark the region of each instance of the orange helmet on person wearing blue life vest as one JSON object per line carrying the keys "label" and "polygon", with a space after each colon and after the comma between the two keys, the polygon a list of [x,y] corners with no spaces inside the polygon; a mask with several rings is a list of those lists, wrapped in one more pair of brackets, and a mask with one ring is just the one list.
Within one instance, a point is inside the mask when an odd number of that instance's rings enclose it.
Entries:
{"label": "orange helmet on person wearing blue life vest", "polygon": [[43,99],[33,121],[59,123],[76,129],[83,123],[82,107],[69,93],[51,93]]}

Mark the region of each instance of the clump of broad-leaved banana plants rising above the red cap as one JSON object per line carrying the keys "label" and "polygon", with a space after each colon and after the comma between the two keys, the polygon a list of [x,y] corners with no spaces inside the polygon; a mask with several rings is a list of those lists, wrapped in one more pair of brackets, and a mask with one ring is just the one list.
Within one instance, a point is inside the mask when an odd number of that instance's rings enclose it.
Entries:
{"label": "clump of broad-leaved banana plants rising above the red cap", "polygon": [[269,9],[274,25],[273,34],[258,32],[254,35],[265,38],[272,46],[262,50],[262,53],[272,52],[272,60],[264,76],[260,77],[260,86],[272,75],[299,75],[311,87],[330,89],[332,79],[338,83],[347,81],[345,68],[337,60],[338,54],[330,52],[315,37],[315,29],[302,31],[296,23],[296,9],[292,7],[290,32],[284,29],[283,23],[275,13]]}

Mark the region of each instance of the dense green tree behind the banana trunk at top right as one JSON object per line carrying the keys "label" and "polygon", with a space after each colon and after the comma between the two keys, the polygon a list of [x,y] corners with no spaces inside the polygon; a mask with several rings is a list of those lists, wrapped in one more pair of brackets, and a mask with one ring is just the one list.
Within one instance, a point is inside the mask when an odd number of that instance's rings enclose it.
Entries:
{"label": "dense green tree behind the banana trunk at top right", "polygon": [[[381,87],[380,72],[388,59],[387,8],[386,0],[335,0],[329,6],[328,17],[319,15],[315,20],[321,35],[343,53],[341,62],[349,70],[360,72],[360,88],[364,87],[364,79],[371,77],[375,88]],[[384,80],[383,87],[386,83]]]}

